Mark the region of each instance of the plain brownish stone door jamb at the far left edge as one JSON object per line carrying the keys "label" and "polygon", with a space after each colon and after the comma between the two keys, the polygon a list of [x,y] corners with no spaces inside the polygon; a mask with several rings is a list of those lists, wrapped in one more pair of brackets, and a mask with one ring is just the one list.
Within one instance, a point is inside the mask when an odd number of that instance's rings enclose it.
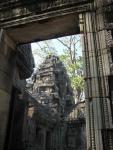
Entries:
{"label": "plain brownish stone door jamb at the far left edge", "polygon": [[0,30],[0,150],[3,150],[8,123],[15,52],[13,42]]}

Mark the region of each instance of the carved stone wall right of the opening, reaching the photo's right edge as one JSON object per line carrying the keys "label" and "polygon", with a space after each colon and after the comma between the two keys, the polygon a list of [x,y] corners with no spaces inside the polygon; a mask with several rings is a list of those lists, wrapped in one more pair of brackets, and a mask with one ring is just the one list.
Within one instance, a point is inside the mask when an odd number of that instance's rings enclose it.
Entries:
{"label": "carved stone wall right of the opening, reaching the photo's right edge", "polygon": [[110,13],[112,2],[112,0],[95,0],[92,3],[94,11],[86,12],[81,17],[84,33],[87,149],[92,150],[113,149],[110,102],[112,98],[109,94],[112,93],[110,84],[112,77],[109,78],[112,74],[112,48],[110,48],[112,38],[108,31],[112,22],[110,19],[112,18],[112,13]]}

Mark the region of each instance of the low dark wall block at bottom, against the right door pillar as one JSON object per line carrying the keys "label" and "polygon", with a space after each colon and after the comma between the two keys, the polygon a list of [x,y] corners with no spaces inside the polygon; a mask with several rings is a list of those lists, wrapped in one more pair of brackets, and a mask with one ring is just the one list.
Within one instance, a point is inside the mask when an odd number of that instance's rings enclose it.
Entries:
{"label": "low dark wall block at bottom, against the right door pillar", "polygon": [[75,119],[67,123],[66,148],[68,150],[86,150],[85,120]]}

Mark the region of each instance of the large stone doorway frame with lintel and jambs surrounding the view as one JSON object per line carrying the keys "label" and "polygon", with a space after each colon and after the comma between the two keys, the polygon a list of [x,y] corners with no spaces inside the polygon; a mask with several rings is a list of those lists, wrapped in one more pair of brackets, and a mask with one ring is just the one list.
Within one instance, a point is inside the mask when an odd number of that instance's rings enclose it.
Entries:
{"label": "large stone doorway frame with lintel and jambs surrounding the view", "polygon": [[[21,65],[17,63],[16,47],[72,34],[83,34],[87,149],[113,149],[112,14],[113,0],[0,1],[1,150],[7,141],[10,142],[14,81],[18,79],[22,85],[22,79],[31,73],[28,72],[26,61]],[[21,54],[24,55],[23,52]],[[22,60],[27,59],[27,55],[24,56]],[[25,69],[21,72],[19,68],[22,65]],[[23,97],[22,89],[17,94],[19,99]]]}

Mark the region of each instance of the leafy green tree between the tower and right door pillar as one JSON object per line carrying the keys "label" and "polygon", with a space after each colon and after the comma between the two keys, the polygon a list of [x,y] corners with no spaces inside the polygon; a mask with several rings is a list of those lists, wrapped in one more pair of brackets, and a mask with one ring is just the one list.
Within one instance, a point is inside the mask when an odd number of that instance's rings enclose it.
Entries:
{"label": "leafy green tree between the tower and right door pillar", "polygon": [[84,95],[83,58],[78,52],[81,49],[81,37],[73,35],[57,40],[64,45],[64,53],[60,56],[60,59],[67,68],[75,100],[79,102],[83,100]]}

